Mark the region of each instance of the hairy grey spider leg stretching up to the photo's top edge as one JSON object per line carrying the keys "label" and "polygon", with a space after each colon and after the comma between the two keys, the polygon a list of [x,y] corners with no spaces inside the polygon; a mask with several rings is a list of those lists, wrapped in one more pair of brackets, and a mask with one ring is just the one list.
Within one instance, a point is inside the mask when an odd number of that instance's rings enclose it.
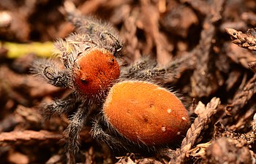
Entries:
{"label": "hairy grey spider leg stretching up to the photo's top edge", "polygon": [[115,57],[121,56],[123,45],[118,32],[112,26],[94,17],[81,15],[75,5],[69,1],[65,1],[64,10],[67,20],[75,26],[78,34],[87,34],[91,40],[112,52]]}

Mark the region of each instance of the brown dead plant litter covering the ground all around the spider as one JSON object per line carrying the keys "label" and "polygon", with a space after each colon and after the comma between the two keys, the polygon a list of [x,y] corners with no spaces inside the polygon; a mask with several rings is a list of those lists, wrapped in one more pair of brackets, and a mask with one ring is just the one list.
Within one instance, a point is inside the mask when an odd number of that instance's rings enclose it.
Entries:
{"label": "brown dead plant litter covering the ground all around the spider", "polygon": [[[192,121],[182,144],[164,145],[156,154],[127,154],[91,138],[91,118],[100,110],[95,107],[80,133],[78,163],[255,163],[255,0],[72,1],[83,15],[119,32],[121,66],[133,64],[122,78],[177,90]],[[37,50],[4,47],[67,37],[74,27],[61,14],[63,2],[0,0],[1,163],[67,163],[59,139],[75,111],[51,120],[41,112],[69,90],[29,75]]]}

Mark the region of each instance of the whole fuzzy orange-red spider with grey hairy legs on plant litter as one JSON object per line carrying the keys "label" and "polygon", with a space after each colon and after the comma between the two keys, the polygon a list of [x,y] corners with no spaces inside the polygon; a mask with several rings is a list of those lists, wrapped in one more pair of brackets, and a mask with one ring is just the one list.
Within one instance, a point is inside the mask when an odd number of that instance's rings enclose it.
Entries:
{"label": "whole fuzzy orange-red spider with grey hairy legs on plant litter", "polygon": [[187,110],[174,93],[150,82],[163,77],[165,69],[149,58],[121,66],[122,44],[116,31],[79,15],[72,4],[64,9],[76,28],[76,33],[56,42],[64,68],[54,60],[38,59],[32,71],[51,85],[72,88],[66,98],[43,108],[47,119],[75,111],[65,130],[67,151],[78,152],[80,130],[91,109],[97,108],[92,137],[110,147],[154,149],[176,141],[189,127]]}

